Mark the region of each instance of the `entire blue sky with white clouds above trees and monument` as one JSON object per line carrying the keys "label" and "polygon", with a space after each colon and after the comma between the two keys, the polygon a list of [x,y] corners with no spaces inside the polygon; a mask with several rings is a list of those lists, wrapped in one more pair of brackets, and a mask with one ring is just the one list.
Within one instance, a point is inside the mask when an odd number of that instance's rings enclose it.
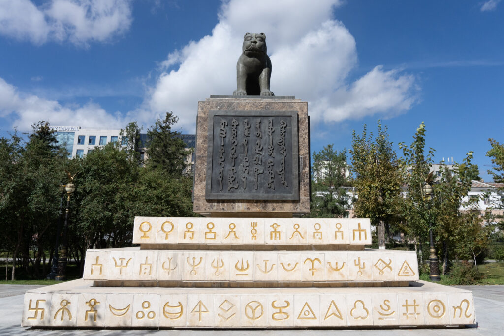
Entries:
{"label": "entire blue sky with white clouds above trees and monument", "polygon": [[[504,2],[0,1],[0,135],[53,125],[145,128],[164,111],[194,132],[199,100],[235,89],[245,32],[264,32],[271,89],[309,104],[311,149],[350,148],[352,130],[435,160],[504,142]],[[400,154],[399,149],[397,149]]]}

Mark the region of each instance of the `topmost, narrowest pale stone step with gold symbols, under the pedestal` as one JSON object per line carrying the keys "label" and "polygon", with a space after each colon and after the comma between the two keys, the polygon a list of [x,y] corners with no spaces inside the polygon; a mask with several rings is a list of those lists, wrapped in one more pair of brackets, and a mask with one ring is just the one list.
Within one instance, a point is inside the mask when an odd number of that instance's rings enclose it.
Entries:
{"label": "topmost, narrowest pale stone step with gold symbols, under the pedestal", "polygon": [[134,244],[370,245],[369,219],[136,217]]}

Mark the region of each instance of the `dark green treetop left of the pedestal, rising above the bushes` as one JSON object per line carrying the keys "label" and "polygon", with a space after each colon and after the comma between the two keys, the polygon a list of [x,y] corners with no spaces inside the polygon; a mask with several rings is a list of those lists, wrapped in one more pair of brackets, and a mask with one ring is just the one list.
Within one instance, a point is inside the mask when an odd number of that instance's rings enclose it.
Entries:
{"label": "dark green treetop left of the pedestal, rising above the bushes", "polygon": [[180,132],[172,130],[177,120],[172,112],[166,112],[164,119],[156,119],[154,126],[147,131],[147,165],[168,175],[181,175],[186,168],[185,159],[191,154],[185,150]]}

